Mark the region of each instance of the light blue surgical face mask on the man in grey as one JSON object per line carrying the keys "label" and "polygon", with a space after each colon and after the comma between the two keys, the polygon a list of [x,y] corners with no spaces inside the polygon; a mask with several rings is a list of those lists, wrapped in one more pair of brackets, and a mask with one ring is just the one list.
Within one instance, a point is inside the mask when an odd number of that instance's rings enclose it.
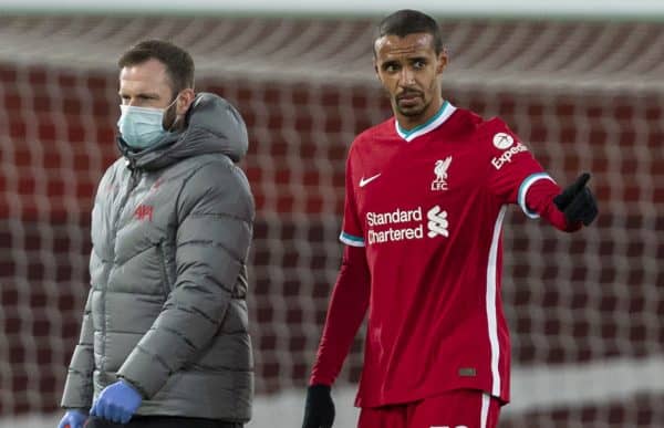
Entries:
{"label": "light blue surgical face mask on the man in grey", "polygon": [[120,119],[117,121],[122,138],[132,148],[144,149],[153,146],[166,135],[167,131],[162,125],[164,113],[176,100],[166,108],[136,107],[122,104],[120,106]]}

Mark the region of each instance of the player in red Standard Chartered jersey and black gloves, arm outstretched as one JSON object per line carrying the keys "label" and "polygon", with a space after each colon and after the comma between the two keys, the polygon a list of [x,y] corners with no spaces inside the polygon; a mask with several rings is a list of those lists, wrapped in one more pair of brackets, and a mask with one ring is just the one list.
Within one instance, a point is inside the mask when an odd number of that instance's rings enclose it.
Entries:
{"label": "player in red Standard Chartered jersey and black gloves, arm outstretched", "polygon": [[589,176],[561,191],[502,121],[445,101],[447,55],[426,14],[387,17],[374,54],[394,117],[349,152],[346,249],[303,427],[332,426],[330,386],[369,313],[360,428],[494,428],[509,401],[506,208],[578,230],[598,212]]}

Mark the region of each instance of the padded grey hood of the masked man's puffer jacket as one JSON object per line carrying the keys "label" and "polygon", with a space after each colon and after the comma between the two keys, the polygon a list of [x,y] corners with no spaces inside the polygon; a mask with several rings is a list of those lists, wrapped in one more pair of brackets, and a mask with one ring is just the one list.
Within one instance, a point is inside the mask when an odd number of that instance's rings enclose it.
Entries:
{"label": "padded grey hood of the masked man's puffer jacket", "polygon": [[185,127],[168,133],[154,146],[134,152],[122,137],[121,153],[134,168],[165,168],[191,156],[220,153],[238,163],[247,154],[249,139],[240,113],[225,98],[201,92],[196,95],[185,115]]}

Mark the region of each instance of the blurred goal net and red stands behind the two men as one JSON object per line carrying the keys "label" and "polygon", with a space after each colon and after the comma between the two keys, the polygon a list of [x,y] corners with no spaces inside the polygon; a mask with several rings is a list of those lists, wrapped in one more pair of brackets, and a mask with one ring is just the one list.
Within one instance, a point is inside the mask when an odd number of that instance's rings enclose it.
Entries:
{"label": "blurred goal net and red stands behind the two men", "polygon": [[[117,156],[115,60],[146,38],[190,50],[197,90],[247,122],[258,206],[249,426],[299,426],[340,262],[345,153],[391,114],[373,27],[406,3],[248,0],[238,12],[147,1],[138,15],[124,0],[50,3],[0,2],[0,427],[55,427],[61,415],[92,197]],[[438,3],[407,6],[442,22],[444,95],[501,116],[561,184],[592,171],[600,200],[596,223],[574,236],[508,216],[515,373],[500,427],[664,427],[664,7]],[[336,427],[354,426],[361,363],[357,337],[335,388]]]}

